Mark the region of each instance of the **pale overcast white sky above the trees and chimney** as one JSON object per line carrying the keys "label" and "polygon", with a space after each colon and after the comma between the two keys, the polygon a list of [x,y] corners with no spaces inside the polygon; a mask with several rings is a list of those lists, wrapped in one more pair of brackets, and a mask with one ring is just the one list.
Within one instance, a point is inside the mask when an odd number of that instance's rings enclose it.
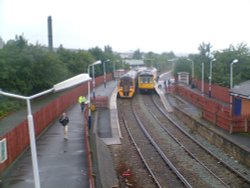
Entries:
{"label": "pale overcast white sky above the trees and chimney", "polygon": [[23,35],[48,45],[113,51],[198,53],[250,44],[249,0],[0,0],[0,37]]}

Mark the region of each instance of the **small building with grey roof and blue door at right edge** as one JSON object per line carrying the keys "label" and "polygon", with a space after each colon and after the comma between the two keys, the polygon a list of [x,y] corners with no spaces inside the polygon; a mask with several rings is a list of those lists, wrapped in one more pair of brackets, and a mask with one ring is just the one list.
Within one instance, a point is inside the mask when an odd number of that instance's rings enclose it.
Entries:
{"label": "small building with grey roof and blue door at right edge", "polygon": [[232,96],[233,115],[250,116],[250,80],[229,90]]}

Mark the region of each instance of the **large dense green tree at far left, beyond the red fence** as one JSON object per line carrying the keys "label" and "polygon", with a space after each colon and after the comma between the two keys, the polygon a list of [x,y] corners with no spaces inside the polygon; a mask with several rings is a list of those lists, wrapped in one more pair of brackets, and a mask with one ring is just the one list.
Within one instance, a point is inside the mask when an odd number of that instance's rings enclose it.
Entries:
{"label": "large dense green tree at far left, beyond the red fence", "polygon": [[0,51],[1,88],[32,95],[68,77],[66,67],[54,53],[40,45],[28,45],[23,37],[8,41]]}

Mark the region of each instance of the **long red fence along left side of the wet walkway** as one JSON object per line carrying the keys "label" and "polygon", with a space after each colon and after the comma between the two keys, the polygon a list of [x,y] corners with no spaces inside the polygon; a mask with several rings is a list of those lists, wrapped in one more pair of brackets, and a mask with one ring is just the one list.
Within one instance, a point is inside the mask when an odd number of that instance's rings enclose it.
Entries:
{"label": "long red fence along left side of the wet walkway", "polygon": [[[107,74],[107,81],[113,79],[112,74]],[[96,86],[103,84],[103,76],[96,78]],[[92,83],[90,84],[92,89]],[[39,136],[58,116],[71,105],[75,104],[80,95],[88,94],[88,83],[84,83],[52,100],[33,113],[35,134]],[[0,174],[8,168],[29,147],[29,131],[27,120],[17,122],[10,132],[0,139],[7,140],[8,159],[0,164]]]}

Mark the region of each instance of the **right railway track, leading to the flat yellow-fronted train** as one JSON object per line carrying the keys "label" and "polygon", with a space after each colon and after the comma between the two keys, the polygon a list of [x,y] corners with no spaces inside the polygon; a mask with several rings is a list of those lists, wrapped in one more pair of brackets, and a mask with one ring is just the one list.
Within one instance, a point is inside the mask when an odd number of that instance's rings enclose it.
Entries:
{"label": "right railway track, leading to the flat yellow-fronted train", "polygon": [[[184,131],[178,123],[171,118],[173,114],[168,114],[162,109],[162,104],[159,98],[154,97],[154,99],[155,100],[147,100],[148,102],[151,102],[151,107],[154,108],[153,111],[155,114],[152,113],[152,115],[164,131],[171,135],[171,137],[176,140],[176,142],[188,155],[202,165],[211,175],[216,177],[224,186],[250,186],[249,177],[232,168],[225,161],[218,158],[213,152],[210,152],[199,142],[193,139],[188,132]],[[158,103],[156,102],[156,99],[158,99]],[[158,112],[155,107],[158,109]]]}

